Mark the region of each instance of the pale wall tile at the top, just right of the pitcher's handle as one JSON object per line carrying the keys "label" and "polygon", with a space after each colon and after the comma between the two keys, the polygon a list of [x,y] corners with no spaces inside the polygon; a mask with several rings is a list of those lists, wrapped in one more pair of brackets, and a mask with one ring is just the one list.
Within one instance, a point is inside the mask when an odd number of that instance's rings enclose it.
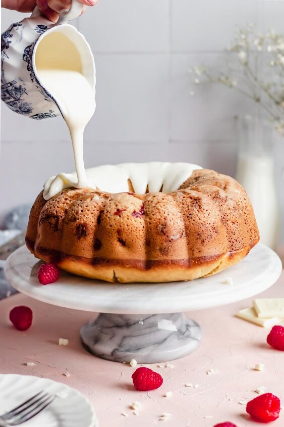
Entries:
{"label": "pale wall tile at the top, just right of the pitcher's handle", "polygon": [[78,23],[95,54],[167,52],[168,0],[99,1]]}

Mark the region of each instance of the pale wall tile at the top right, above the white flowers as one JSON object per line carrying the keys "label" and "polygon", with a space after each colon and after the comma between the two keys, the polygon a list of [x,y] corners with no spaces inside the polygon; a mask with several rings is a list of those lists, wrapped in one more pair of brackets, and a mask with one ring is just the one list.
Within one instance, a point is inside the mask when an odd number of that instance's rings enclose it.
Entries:
{"label": "pale wall tile at the top right, above the white flowers", "polygon": [[238,26],[258,20],[253,0],[173,0],[173,52],[221,51]]}

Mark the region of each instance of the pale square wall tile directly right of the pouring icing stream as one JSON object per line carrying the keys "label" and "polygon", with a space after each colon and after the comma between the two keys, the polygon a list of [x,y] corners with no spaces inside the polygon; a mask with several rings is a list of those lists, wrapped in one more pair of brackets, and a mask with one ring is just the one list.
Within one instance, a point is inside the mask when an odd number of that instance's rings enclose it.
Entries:
{"label": "pale square wall tile directly right of the pouring icing stream", "polygon": [[87,141],[160,142],[168,137],[168,55],[97,55],[97,107]]}

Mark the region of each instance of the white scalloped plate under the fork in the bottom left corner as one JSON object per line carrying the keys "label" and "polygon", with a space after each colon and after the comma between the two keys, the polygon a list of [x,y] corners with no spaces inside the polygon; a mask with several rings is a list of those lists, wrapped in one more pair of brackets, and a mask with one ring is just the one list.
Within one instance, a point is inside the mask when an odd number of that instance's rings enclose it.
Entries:
{"label": "white scalloped plate under the fork in the bottom left corner", "polygon": [[90,402],[77,390],[51,379],[30,375],[0,374],[0,414],[44,390],[63,393],[41,414],[23,424],[25,427],[98,427]]}

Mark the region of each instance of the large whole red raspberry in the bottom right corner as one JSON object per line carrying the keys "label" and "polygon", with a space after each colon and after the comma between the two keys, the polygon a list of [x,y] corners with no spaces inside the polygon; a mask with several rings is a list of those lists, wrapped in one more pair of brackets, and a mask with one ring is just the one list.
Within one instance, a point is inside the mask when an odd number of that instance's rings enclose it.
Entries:
{"label": "large whole red raspberry in the bottom right corner", "polygon": [[262,394],[247,403],[247,413],[258,422],[270,422],[278,418],[280,400],[271,393]]}

